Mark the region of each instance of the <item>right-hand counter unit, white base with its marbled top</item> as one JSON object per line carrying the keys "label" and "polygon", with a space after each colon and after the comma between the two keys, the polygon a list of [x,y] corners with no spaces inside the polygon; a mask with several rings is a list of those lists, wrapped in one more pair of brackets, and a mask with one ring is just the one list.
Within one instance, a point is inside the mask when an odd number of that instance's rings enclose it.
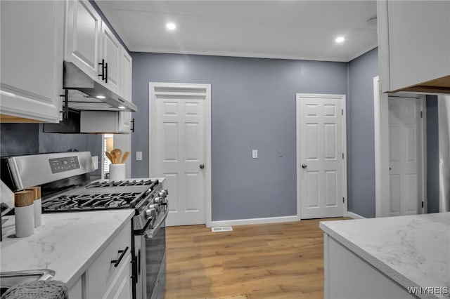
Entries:
{"label": "right-hand counter unit, white base with its marbled top", "polygon": [[320,227],[325,298],[450,298],[450,213]]}

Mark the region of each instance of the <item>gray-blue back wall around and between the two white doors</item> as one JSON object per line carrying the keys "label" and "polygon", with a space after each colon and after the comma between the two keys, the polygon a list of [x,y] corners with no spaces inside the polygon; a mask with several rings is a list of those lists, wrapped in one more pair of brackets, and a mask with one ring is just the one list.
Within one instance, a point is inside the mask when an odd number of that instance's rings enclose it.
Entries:
{"label": "gray-blue back wall around and between the two white doors", "polygon": [[[376,54],[375,54],[376,55]],[[148,176],[148,82],[212,86],[212,220],[296,215],[295,93],[347,94],[347,63],[131,53],[132,176]],[[258,159],[251,150],[257,149]],[[283,157],[278,157],[283,150]],[[136,151],[143,161],[136,161]]]}

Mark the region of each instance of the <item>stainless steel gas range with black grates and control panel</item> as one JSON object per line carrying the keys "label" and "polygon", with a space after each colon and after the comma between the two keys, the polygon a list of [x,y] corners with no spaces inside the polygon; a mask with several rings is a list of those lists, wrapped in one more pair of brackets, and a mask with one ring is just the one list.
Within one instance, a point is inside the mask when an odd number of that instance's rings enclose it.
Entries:
{"label": "stainless steel gas range with black grates and control panel", "polygon": [[133,298],[163,298],[166,276],[167,190],[158,179],[90,182],[90,152],[1,159],[1,180],[13,191],[41,186],[42,212],[132,208]]}

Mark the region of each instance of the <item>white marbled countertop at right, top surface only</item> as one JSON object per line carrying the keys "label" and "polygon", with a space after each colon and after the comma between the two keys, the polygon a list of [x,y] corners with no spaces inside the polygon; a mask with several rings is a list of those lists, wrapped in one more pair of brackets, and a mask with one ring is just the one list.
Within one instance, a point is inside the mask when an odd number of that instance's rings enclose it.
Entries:
{"label": "white marbled countertop at right, top surface only", "polygon": [[325,221],[319,226],[404,288],[446,287],[450,292],[450,212]]}

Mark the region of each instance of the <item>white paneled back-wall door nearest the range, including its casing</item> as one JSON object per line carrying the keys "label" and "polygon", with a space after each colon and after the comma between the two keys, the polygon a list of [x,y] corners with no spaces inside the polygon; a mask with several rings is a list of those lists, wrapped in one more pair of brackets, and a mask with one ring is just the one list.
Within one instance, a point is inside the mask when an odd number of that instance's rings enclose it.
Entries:
{"label": "white paneled back-wall door nearest the range, including its casing", "polygon": [[150,84],[150,175],[166,179],[167,225],[207,220],[209,101],[209,85]]}

